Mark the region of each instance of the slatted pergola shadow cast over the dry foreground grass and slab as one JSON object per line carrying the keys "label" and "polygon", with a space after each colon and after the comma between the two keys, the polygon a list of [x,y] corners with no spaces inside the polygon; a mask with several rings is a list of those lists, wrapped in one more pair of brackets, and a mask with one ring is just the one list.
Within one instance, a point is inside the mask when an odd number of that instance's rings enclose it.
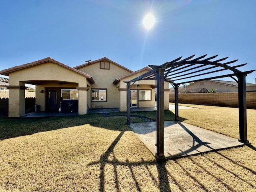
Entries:
{"label": "slatted pergola shadow cast over the dry foreground grass and slab", "polygon": [[[176,124],[180,125],[181,123],[176,122]],[[209,145],[209,143],[203,142],[202,139],[200,139],[196,134],[194,134],[194,132],[192,132],[190,129],[188,129],[187,125],[183,125],[183,123],[182,123],[181,127],[185,132],[187,132],[190,136],[192,136],[194,148],[198,149],[199,145],[203,145],[203,146]],[[138,168],[141,169],[142,167],[145,169],[145,174],[149,175],[149,177],[150,177],[149,180],[151,180],[153,182],[154,186],[156,186],[160,192],[172,191],[171,185],[170,185],[171,183],[172,184],[174,183],[180,191],[185,192],[186,188],[184,187],[184,185],[182,185],[180,183],[181,176],[184,176],[184,174],[188,178],[190,178],[191,180],[196,182],[200,186],[200,188],[203,188],[204,190],[208,191],[209,186],[207,184],[202,183],[202,180],[200,178],[197,178],[196,176],[191,174],[190,168],[184,166],[182,161],[173,160],[173,161],[158,161],[157,162],[156,160],[146,161],[143,158],[141,158],[137,162],[130,162],[128,159],[126,159],[126,161],[118,160],[118,158],[116,158],[116,156],[114,154],[114,148],[116,147],[116,145],[118,144],[118,142],[120,141],[120,139],[122,138],[124,133],[125,133],[125,131],[123,130],[118,134],[118,136],[115,138],[115,140],[112,142],[112,144],[104,152],[104,154],[102,154],[102,156],[100,156],[99,160],[92,161],[89,164],[87,164],[87,166],[95,166],[96,165],[100,169],[100,175],[99,175],[99,180],[100,180],[99,191],[100,192],[104,192],[106,190],[106,187],[107,187],[106,180],[108,179],[107,178],[108,176],[106,175],[106,171],[107,171],[107,167],[109,168],[109,165],[112,166],[112,170],[114,172],[114,175],[112,175],[113,183],[111,184],[111,187],[113,190],[116,190],[118,192],[122,191],[122,186],[121,186],[122,184],[120,182],[120,171],[121,171],[120,166],[122,166],[122,168],[128,168],[129,175],[127,175],[127,177],[131,177],[131,181],[132,181],[131,183],[134,184],[134,188],[136,188],[136,190],[139,192],[143,191],[143,185],[141,183],[140,176],[138,175],[138,173],[136,173],[136,169],[138,169]],[[197,145],[196,142],[201,142],[201,143],[199,145]],[[236,140],[236,142],[238,142],[238,141]],[[209,147],[212,148],[211,146],[209,146]],[[112,158],[109,158],[110,156]],[[244,172],[246,172],[246,173],[255,174],[255,171],[252,170],[251,168],[248,168],[248,167],[236,162],[232,158],[225,156],[224,154],[222,154],[218,151],[216,152],[215,156],[222,157],[225,162],[232,164],[233,166],[238,166],[240,168],[243,168]],[[212,162],[218,168],[220,168],[224,172],[227,172],[229,175],[235,177],[237,180],[243,182],[244,184],[248,184],[252,188],[256,187],[255,184],[253,184],[252,182],[244,180],[244,178],[242,178],[240,175],[236,174],[233,170],[227,169],[222,164],[218,163],[218,158],[217,158],[217,160],[214,160],[205,155],[202,155],[201,158],[203,158],[205,161]],[[188,157],[187,161],[189,164],[192,163],[192,164],[195,164],[196,166],[198,166],[198,168],[200,168],[202,171],[206,172],[214,180],[216,180],[217,182],[219,182],[220,184],[222,184],[223,186],[228,188],[228,190],[230,190],[230,191],[234,190],[234,186],[232,186],[225,180],[222,180],[221,178],[219,178],[219,176],[216,176],[216,174],[213,171],[209,170],[207,164],[201,164],[200,162],[198,162],[198,160],[196,158],[192,158],[192,157]],[[157,177],[153,173],[154,169],[152,169],[152,166],[156,166]],[[175,173],[171,172],[170,166],[173,166],[174,168],[179,169],[180,174],[177,176],[176,175],[177,173],[175,174]],[[118,167],[119,167],[119,170],[118,170]],[[108,186],[108,189],[109,189],[109,187],[110,186]]]}

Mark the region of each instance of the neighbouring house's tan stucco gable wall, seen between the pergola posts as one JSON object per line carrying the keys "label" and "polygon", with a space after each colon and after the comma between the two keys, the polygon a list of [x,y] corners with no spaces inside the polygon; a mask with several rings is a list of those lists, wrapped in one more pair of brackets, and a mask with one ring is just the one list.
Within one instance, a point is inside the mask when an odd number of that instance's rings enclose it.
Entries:
{"label": "neighbouring house's tan stucco gable wall, seen between the pergola posts", "polygon": [[235,86],[229,86],[229,85],[224,85],[224,84],[214,83],[209,81],[204,81],[204,84],[205,84],[204,86],[200,86],[200,82],[195,82],[193,84],[186,86],[186,89],[191,90],[191,89],[206,88],[207,90],[216,89],[217,92],[238,92],[238,88]]}

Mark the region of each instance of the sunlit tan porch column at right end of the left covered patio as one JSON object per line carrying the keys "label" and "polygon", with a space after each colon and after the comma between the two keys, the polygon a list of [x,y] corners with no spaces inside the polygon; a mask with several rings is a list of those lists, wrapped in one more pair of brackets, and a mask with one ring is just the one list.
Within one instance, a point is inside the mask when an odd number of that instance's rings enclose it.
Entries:
{"label": "sunlit tan porch column at right end of the left covered patio", "polygon": [[88,87],[77,87],[78,90],[78,115],[87,114],[87,91]]}

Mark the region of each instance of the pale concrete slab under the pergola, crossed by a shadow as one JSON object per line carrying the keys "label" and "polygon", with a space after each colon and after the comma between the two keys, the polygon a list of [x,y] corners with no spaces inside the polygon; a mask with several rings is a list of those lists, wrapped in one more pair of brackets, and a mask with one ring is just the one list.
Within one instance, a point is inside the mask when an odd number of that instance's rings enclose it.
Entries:
{"label": "pale concrete slab under the pergola, crossed by a shadow", "polygon": [[[156,123],[132,123],[130,128],[155,155]],[[238,142],[238,139],[184,122],[164,122],[164,155],[166,158],[177,158],[243,145]]]}

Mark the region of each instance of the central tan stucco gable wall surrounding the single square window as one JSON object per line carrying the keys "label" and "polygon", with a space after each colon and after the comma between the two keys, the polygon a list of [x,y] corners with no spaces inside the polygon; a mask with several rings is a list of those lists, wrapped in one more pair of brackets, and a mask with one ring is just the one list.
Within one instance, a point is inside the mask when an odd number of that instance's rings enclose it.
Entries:
{"label": "central tan stucco gable wall surrounding the single square window", "polygon": [[[92,76],[94,84],[90,85],[88,90],[88,106],[89,108],[119,108],[120,107],[120,93],[118,88],[113,84],[114,80],[129,71],[110,63],[110,69],[100,69],[100,62],[79,68],[78,70],[85,72]],[[107,102],[92,102],[91,89],[107,89]]]}

